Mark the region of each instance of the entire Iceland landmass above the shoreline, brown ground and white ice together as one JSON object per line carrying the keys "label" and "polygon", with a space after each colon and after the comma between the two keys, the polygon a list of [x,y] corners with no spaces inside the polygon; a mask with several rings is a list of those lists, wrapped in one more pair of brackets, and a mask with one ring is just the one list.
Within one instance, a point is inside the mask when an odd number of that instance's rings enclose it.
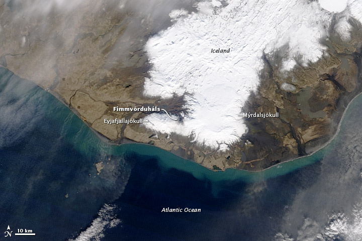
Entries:
{"label": "entire Iceland landmass above the shoreline, brown ground and white ice together", "polygon": [[30,2],[0,5],[0,65],[116,145],[260,171],[322,147],[362,91],[357,1]]}

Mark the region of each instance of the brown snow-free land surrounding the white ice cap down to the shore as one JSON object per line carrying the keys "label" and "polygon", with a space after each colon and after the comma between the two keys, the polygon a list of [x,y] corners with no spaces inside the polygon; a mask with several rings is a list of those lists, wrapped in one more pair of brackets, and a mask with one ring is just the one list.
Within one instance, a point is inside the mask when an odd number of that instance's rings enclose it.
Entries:
{"label": "brown snow-free land surrounding the white ice cap down to the shore", "polygon": [[[188,4],[180,1],[177,7],[190,8]],[[183,96],[162,100],[142,95],[150,67],[143,45],[170,24],[169,18],[119,10],[108,1],[84,1],[64,14],[19,13],[21,6],[0,6],[1,65],[55,95],[112,143],[151,144],[210,169],[257,171],[315,151],[332,137],[346,104],[361,91],[362,31],[357,22],[351,21],[350,41],[331,31],[325,42],[328,54],[287,74],[280,70],[279,53],[265,55],[261,84],[244,112],[279,112],[279,117],[245,119],[249,132],[229,151],[219,152],[192,143],[192,137],[155,133],[142,125],[104,124],[105,118],[149,114],[113,111],[114,106],[188,113]]]}

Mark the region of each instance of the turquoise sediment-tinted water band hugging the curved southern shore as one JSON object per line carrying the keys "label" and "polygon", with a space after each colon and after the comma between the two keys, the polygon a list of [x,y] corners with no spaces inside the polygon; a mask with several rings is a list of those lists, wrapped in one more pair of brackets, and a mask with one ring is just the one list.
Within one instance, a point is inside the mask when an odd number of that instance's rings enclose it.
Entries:
{"label": "turquoise sediment-tinted water band hugging the curved southern shore", "polygon": [[[53,96],[50,96],[49,93],[44,94],[49,95],[48,98],[50,101],[48,101],[49,105],[47,108],[49,117],[54,122],[64,121],[64,126],[68,127],[64,130],[64,136],[76,150],[83,153],[84,155],[92,155],[92,153],[101,151],[102,153],[109,153],[114,156],[122,156],[128,152],[135,152],[139,155],[155,156],[159,160],[159,165],[161,165],[163,168],[174,168],[177,170],[182,170],[191,173],[198,179],[209,179],[213,182],[236,179],[240,179],[245,182],[258,182],[268,178],[274,178],[288,174],[320,160],[324,156],[325,152],[328,152],[328,150],[334,148],[334,143],[339,141],[338,136],[340,136],[337,135],[335,140],[332,140],[331,143],[329,143],[326,147],[322,148],[311,156],[281,163],[260,172],[249,172],[236,169],[227,169],[226,171],[214,172],[193,161],[177,157],[168,151],[154,146],[145,144],[123,144],[120,146],[108,144],[99,139],[97,135],[91,129],[86,127],[86,125],[83,124],[82,121],[66,106],[61,104]],[[344,118],[348,118],[351,111],[353,111],[353,108],[355,108],[356,105],[361,102],[362,96],[359,95],[350,103],[348,109],[345,112]],[[343,126],[342,121],[340,131],[343,132],[344,129],[345,127]]]}

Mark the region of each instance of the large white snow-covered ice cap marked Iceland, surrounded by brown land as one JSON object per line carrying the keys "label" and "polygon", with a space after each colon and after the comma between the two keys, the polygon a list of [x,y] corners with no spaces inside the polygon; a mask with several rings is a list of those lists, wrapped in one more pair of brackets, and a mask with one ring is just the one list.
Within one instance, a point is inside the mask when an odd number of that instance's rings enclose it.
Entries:
{"label": "large white snow-covered ice cap marked Iceland, surrounded by brown land", "polygon": [[[333,11],[318,2],[226,3],[200,2],[198,12],[190,14],[174,10],[170,13],[174,24],[148,40],[145,48],[152,67],[144,94],[171,98],[174,93],[190,93],[185,99],[191,112],[183,122],[152,113],[146,117],[147,128],[192,135],[199,144],[225,150],[247,131],[238,114],[259,84],[263,53],[287,46],[282,60],[285,71],[326,54],[320,40],[328,35]],[[348,31],[345,23],[343,28]],[[230,48],[230,53],[211,53],[218,48]]]}

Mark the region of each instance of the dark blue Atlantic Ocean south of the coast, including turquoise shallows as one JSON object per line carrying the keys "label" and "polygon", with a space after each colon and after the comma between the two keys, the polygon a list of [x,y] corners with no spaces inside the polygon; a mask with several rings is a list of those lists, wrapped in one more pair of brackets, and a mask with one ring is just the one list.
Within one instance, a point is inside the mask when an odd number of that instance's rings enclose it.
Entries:
{"label": "dark blue Atlantic Ocean south of the coast, including turquoise shallows", "polygon": [[0,240],[354,240],[326,230],[334,213],[354,225],[360,210],[360,97],[313,156],[213,172],[152,146],[110,145],[48,92],[0,77]]}

